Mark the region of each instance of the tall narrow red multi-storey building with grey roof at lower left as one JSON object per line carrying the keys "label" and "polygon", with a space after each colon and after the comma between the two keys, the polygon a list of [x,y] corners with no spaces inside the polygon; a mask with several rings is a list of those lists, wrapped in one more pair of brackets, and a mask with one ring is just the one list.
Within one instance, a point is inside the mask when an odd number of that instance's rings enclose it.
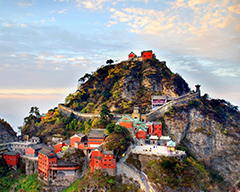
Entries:
{"label": "tall narrow red multi-storey building with grey roof at lower left", "polygon": [[38,172],[45,178],[49,176],[49,167],[57,164],[57,156],[50,147],[43,147],[38,152]]}

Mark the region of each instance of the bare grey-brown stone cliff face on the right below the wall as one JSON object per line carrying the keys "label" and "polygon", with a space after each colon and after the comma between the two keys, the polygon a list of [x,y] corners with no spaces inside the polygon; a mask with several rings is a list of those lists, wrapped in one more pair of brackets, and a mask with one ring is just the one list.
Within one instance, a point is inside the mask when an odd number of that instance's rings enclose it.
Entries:
{"label": "bare grey-brown stone cliff face on the right below the wall", "polygon": [[177,143],[183,142],[199,161],[232,183],[240,179],[240,134],[222,131],[232,127],[224,127],[196,109],[182,111],[174,117],[165,116],[165,123],[168,134]]}

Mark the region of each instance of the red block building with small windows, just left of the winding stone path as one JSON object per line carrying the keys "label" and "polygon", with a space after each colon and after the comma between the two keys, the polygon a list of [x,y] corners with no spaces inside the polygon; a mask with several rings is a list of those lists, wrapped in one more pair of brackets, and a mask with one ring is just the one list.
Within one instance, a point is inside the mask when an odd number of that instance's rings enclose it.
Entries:
{"label": "red block building with small windows, just left of the winding stone path", "polygon": [[113,156],[113,151],[100,151],[99,149],[92,151],[89,166],[92,173],[95,169],[103,169],[109,175],[115,175],[116,159]]}

